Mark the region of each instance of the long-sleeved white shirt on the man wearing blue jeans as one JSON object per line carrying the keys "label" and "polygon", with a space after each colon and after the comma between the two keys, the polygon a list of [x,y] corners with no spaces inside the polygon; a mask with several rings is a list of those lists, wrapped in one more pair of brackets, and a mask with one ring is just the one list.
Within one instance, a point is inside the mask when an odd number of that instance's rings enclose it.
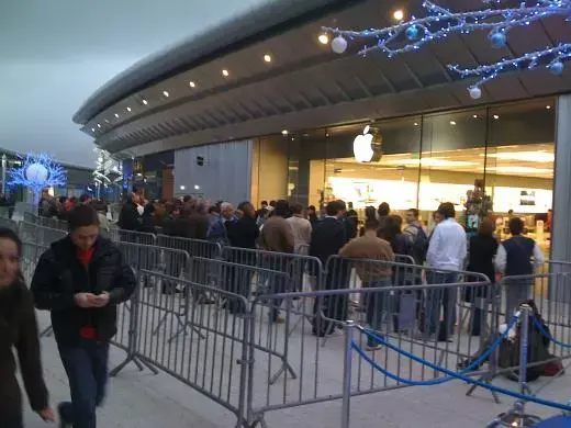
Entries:
{"label": "long-sleeved white shirt on the man wearing blue jeans", "polygon": [[467,237],[454,218],[438,224],[430,237],[426,260],[432,268],[460,270],[467,255]]}

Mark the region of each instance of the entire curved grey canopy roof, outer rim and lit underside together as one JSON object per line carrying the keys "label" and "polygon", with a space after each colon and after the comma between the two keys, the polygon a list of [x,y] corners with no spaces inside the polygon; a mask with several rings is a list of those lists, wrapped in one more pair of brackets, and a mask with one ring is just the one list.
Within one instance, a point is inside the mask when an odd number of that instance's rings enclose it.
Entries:
{"label": "entire curved grey canopy roof, outer rim and lit underside together", "polygon": [[[473,4],[456,0],[455,9]],[[474,101],[469,82],[446,67],[571,42],[557,18],[514,29],[501,49],[478,32],[392,58],[362,58],[360,43],[336,55],[317,41],[322,26],[388,26],[398,8],[422,13],[419,0],[272,1],[120,75],[75,120],[101,148],[131,157],[571,91],[571,67],[561,76],[539,67],[490,81]]]}

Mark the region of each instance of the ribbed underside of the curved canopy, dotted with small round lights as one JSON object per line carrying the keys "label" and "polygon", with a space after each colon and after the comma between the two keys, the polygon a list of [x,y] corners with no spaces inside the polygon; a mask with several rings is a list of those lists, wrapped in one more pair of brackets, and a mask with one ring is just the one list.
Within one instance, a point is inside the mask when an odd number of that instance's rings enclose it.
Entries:
{"label": "ribbed underside of the curved canopy, dotted with small round lights", "polygon": [[[555,22],[549,33],[531,25],[505,49],[493,49],[485,34],[450,37],[418,54],[395,58],[376,53],[362,58],[337,56],[317,36],[322,25],[355,27],[390,24],[395,1],[369,0],[320,21],[238,52],[215,58],[133,93],[86,124],[102,147],[144,155],[189,145],[278,134],[282,129],[331,126],[347,122],[416,114],[474,104],[469,82],[446,65],[490,63],[564,36]],[[475,7],[472,0],[462,2]],[[406,4],[411,10],[411,1]],[[456,3],[455,3],[456,4]],[[460,5],[457,5],[460,7]],[[527,30],[527,29],[526,29]],[[349,47],[356,53],[360,45]],[[270,56],[270,60],[265,59]],[[223,75],[226,70],[226,76]],[[192,82],[192,85],[191,85]],[[545,70],[506,75],[484,87],[478,102],[517,100],[571,90],[571,71],[555,77]],[[166,91],[166,92],[165,92]],[[165,93],[168,93],[166,95]],[[145,102],[146,101],[146,104]],[[116,111],[128,114],[115,116]],[[161,126],[178,119],[177,126]],[[109,122],[109,123],[108,123]],[[100,124],[102,132],[99,132]],[[94,129],[94,132],[91,132]],[[146,131],[141,135],[139,131]]]}

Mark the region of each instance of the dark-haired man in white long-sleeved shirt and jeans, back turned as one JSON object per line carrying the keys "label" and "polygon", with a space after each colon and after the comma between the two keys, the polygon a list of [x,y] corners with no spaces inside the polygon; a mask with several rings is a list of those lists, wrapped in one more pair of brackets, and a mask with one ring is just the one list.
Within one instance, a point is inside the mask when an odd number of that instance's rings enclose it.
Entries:
{"label": "dark-haired man in white long-sleeved shirt and jeans, back turned", "polygon": [[[467,237],[463,227],[455,219],[452,203],[441,203],[438,215],[443,221],[434,229],[428,245],[426,260],[432,270],[426,272],[426,281],[428,284],[451,284],[458,282],[458,271],[467,256]],[[457,290],[432,290],[427,297],[428,333],[437,335],[438,341],[448,341],[456,319]],[[439,323],[440,307],[444,311],[443,323]]]}

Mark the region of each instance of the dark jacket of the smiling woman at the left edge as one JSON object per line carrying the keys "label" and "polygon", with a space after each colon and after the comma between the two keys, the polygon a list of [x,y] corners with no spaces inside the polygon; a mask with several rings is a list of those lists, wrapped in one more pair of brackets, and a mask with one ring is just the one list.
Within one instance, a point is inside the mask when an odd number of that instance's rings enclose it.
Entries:
{"label": "dark jacket of the smiling woman at the left edge", "polygon": [[22,412],[22,397],[15,378],[15,349],[32,408],[47,407],[47,388],[42,374],[40,339],[32,293],[16,282],[0,289],[0,426]]}

